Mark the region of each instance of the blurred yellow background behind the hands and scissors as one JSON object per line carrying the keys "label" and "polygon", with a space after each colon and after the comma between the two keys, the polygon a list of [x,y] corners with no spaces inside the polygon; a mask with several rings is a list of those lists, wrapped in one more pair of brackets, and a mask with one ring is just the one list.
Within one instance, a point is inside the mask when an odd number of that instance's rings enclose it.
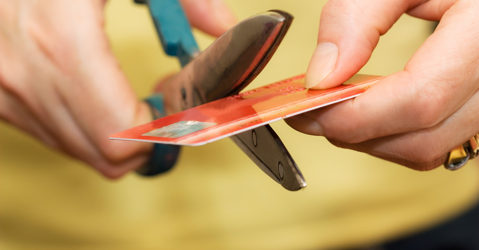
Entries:
{"label": "blurred yellow background behind the hands and scissors", "polygon": [[[270,9],[295,16],[249,88],[306,71],[325,0],[227,2],[239,20]],[[179,69],[163,54],[145,6],[108,1],[106,30],[139,98]],[[431,30],[431,22],[401,17],[360,73],[401,70]],[[194,33],[202,49],[214,40]],[[184,147],[162,176],[111,181],[0,123],[0,249],[341,249],[432,227],[477,202],[477,162],[419,172],[335,148],[283,121],[272,126],[302,170],[304,190],[284,190],[229,139]]]}

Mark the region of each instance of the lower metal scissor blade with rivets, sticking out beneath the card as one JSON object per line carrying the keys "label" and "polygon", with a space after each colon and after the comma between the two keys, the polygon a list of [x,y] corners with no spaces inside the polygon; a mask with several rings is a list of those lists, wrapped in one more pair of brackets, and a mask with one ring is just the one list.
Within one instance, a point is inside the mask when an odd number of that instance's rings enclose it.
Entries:
{"label": "lower metal scissor blade with rivets, sticking out beneath the card", "polygon": [[285,189],[306,187],[301,171],[281,139],[270,125],[264,125],[230,137],[271,179]]}

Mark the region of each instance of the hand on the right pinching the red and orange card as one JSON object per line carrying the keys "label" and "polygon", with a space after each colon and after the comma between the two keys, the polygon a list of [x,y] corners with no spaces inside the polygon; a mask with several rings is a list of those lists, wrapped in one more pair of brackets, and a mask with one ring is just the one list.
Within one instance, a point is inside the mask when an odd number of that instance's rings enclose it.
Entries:
{"label": "hand on the right pinching the red and orange card", "polygon": [[477,134],[477,0],[330,0],[321,14],[306,87],[331,88],[352,77],[404,12],[441,20],[404,70],[355,99],[286,122],[338,147],[417,170],[442,165],[447,152]]}

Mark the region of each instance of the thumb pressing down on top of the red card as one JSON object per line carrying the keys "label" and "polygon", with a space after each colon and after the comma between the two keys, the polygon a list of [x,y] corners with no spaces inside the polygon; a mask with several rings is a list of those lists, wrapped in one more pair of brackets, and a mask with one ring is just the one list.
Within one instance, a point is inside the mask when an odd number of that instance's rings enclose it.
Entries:
{"label": "thumb pressing down on top of the red card", "polygon": [[306,71],[305,87],[327,89],[351,78],[369,60],[379,36],[423,1],[328,1],[321,12],[318,46]]}

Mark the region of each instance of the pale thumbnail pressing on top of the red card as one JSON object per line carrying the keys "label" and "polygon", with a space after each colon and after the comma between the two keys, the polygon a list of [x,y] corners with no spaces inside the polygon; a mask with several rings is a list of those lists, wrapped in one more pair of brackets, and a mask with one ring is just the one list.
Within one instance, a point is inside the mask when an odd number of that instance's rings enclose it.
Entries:
{"label": "pale thumbnail pressing on top of the red card", "polygon": [[304,85],[306,88],[320,88],[324,80],[336,66],[338,46],[333,43],[321,43],[314,50],[313,57],[306,71]]}

